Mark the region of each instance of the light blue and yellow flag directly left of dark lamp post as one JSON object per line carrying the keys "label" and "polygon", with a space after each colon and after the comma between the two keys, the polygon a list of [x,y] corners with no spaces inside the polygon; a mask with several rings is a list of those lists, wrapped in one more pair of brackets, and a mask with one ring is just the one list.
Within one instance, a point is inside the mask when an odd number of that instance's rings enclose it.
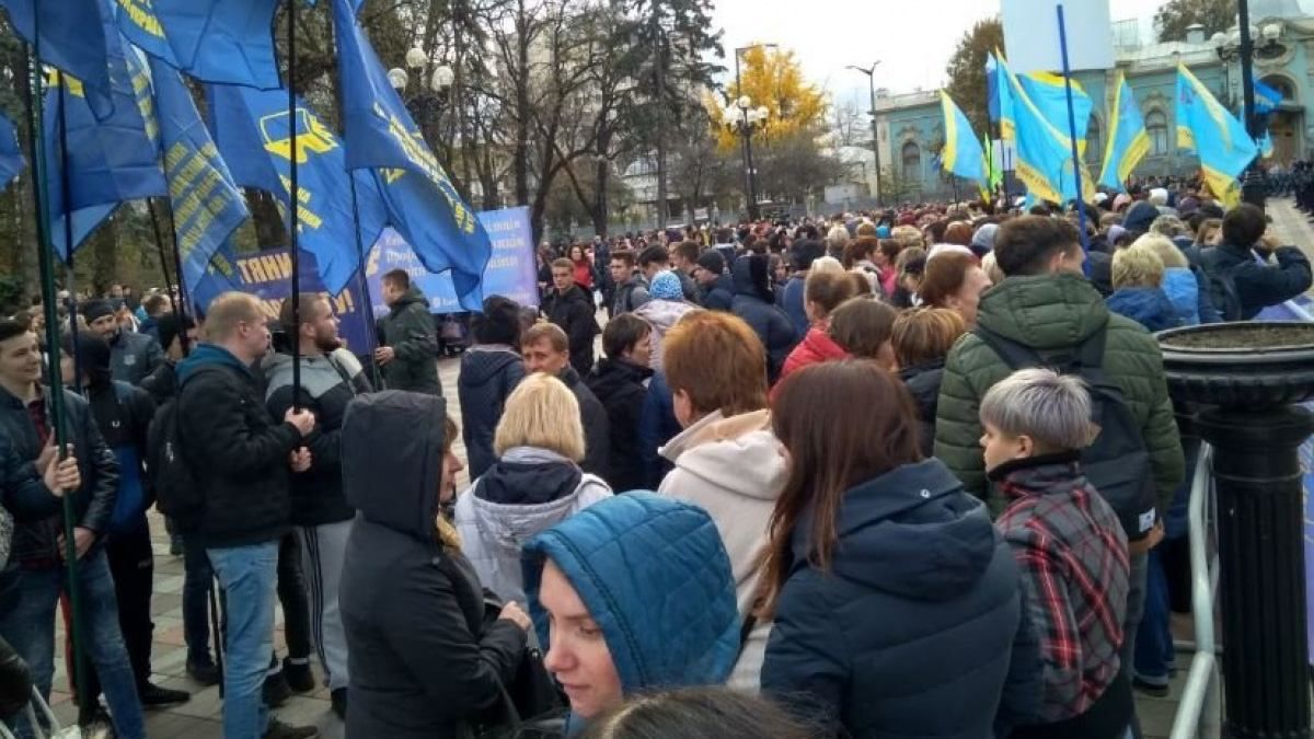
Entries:
{"label": "light blue and yellow flag directly left of dark lamp post", "polygon": [[1190,74],[1177,66],[1177,149],[1200,156],[1200,168],[1225,206],[1240,203],[1238,178],[1259,155],[1246,128]]}

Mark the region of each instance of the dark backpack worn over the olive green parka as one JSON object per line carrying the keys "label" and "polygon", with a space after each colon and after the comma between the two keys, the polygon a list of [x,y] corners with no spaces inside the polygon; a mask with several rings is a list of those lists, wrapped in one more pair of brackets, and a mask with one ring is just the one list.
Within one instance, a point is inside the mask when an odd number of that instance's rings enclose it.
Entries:
{"label": "dark backpack worn over the olive green parka", "polygon": [[1071,352],[1042,358],[980,325],[972,329],[1010,370],[1049,367],[1060,375],[1077,375],[1091,393],[1091,422],[1100,434],[1081,450],[1081,468],[1096,490],[1108,501],[1129,542],[1143,539],[1156,521],[1154,471],[1131,409],[1122,389],[1104,372],[1104,342],[1108,330],[1091,334]]}

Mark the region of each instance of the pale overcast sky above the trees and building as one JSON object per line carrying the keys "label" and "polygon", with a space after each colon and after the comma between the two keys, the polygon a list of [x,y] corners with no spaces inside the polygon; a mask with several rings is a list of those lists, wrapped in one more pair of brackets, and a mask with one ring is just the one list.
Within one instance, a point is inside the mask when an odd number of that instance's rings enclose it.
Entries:
{"label": "pale overcast sky above the trees and building", "polygon": [[[725,30],[721,62],[735,71],[735,49],[775,42],[791,49],[804,74],[836,101],[867,100],[867,80],[846,70],[879,59],[876,87],[892,93],[936,89],[963,33],[999,12],[997,0],[714,0]],[[1109,0],[1114,21],[1139,18],[1148,37],[1160,0]],[[1306,3],[1307,5],[1307,3]]]}

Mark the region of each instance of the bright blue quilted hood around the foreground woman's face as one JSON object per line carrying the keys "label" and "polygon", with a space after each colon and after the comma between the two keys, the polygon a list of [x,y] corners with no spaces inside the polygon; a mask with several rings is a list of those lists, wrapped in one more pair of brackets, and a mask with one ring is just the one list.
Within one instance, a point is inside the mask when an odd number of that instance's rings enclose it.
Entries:
{"label": "bright blue quilted hood around the foreground woman's face", "polygon": [[729,676],[738,657],[735,579],[703,509],[632,492],[531,539],[523,551],[524,593],[539,643],[548,644],[548,618],[539,604],[544,558],[589,606],[625,696],[715,685]]}

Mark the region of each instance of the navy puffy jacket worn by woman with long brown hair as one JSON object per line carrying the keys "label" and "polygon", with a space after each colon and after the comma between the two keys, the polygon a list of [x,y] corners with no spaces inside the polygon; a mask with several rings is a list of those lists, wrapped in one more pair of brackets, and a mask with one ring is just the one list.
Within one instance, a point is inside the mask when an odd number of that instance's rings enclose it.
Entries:
{"label": "navy puffy jacket worn by woman with long brown hair", "polygon": [[982,739],[996,714],[1025,714],[1005,700],[1037,664],[1017,564],[943,464],[846,492],[829,572],[808,563],[812,514],[794,527],[765,693],[859,739]]}

